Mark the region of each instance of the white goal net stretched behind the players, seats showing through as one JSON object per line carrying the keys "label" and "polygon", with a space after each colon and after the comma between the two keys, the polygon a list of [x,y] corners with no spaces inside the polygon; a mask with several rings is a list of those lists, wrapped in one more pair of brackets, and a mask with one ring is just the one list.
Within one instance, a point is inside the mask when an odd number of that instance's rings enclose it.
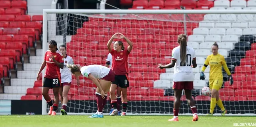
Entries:
{"label": "white goal net stretched behind the players, seats showing through", "polygon": [[[206,80],[200,80],[204,61],[211,54],[211,46],[218,43],[234,84],[229,85],[223,70],[220,99],[230,115],[256,113],[256,17],[251,10],[44,10],[43,52],[50,40],[66,42],[67,54],[80,66],[106,64],[106,44],[114,33],[123,33],[133,43],[128,58],[129,85],[128,114],[172,114],[174,104],[174,69],[158,68],[168,64],[172,49],[178,46],[177,36],[186,34],[188,46],[196,51],[198,67],[193,68],[194,90],[198,113],[210,111],[210,96],[201,95],[209,85],[208,66]],[[47,24],[47,25],[46,25]],[[114,41],[117,41],[114,40]],[[112,44],[114,43],[112,42]],[[124,46],[127,47],[126,41]],[[97,111],[92,81],[80,76],[80,85],[73,77],[68,94],[68,114],[92,114]],[[53,98],[52,92],[49,92]],[[61,107],[61,106],[59,106]],[[48,111],[43,99],[43,114]],[[109,113],[110,101],[104,107]],[[190,106],[183,94],[180,114],[190,114]],[[220,114],[216,105],[215,114]]]}

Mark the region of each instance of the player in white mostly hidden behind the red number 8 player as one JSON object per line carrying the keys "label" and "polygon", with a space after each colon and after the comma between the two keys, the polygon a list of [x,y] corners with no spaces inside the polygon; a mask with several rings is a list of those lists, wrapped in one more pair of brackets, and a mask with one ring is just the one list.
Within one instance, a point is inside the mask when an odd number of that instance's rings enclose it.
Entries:
{"label": "player in white mostly hidden behind the red number 8 player", "polygon": [[[106,67],[111,68],[112,67],[112,55],[109,53],[108,54],[108,58],[106,59]],[[109,96],[109,100],[111,102],[111,98]],[[120,113],[120,107],[121,107],[121,88],[118,86],[116,89],[116,106],[117,106],[117,111],[118,111],[118,115],[121,115]],[[114,110],[113,106],[111,105],[111,110],[109,115],[112,113],[112,111]]]}

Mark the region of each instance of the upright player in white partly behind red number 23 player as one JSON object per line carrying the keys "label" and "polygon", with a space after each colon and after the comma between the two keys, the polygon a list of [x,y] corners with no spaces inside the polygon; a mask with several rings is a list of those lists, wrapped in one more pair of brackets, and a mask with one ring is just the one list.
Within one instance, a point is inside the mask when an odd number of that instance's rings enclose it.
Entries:
{"label": "upright player in white partly behind red number 23 player", "polygon": [[[67,115],[66,112],[66,107],[68,103],[68,92],[70,90],[70,85],[72,81],[72,73],[70,70],[66,67],[66,64],[74,64],[72,57],[68,56],[66,54],[66,46],[65,45],[60,45],[60,53],[63,55],[64,59],[64,68],[60,69],[60,74],[61,74],[61,88],[59,90],[60,93],[60,103],[62,104],[62,109],[60,110],[61,115]],[[79,77],[76,76],[76,82],[77,85],[80,84]]]}

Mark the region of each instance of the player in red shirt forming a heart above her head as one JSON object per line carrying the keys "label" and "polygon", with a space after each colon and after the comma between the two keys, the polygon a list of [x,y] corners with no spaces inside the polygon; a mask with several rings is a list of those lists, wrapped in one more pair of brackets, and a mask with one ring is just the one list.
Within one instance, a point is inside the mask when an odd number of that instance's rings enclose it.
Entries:
{"label": "player in red shirt forming a heart above her head", "polygon": [[[117,39],[125,39],[128,43],[127,49],[124,48],[122,41],[116,41],[114,43],[114,49],[110,47],[112,41]],[[122,33],[115,33],[111,39],[108,41],[107,47],[108,51],[112,55],[112,67],[111,70],[115,73],[115,81],[112,82],[110,87],[110,98],[113,111],[110,115],[118,115],[117,111],[117,100],[116,100],[116,88],[119,86],[121,88],[122,94],[122,114],[121,116],[126,115],[127,109],[127,87],[129,87],[129,78],[128,78],[128,55],[132,51],[133,43],[126,38]]]}

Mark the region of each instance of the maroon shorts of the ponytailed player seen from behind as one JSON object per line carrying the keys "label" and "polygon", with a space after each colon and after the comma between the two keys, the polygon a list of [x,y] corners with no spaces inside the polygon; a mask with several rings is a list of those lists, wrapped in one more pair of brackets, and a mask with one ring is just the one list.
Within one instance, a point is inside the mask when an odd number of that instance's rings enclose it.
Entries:
{"label": "maroon shorts of the ponytailed player seen from behind", "polygon": [[194,84],[193,82],[174,82],[172,88],[174,90],[193,90]]}

